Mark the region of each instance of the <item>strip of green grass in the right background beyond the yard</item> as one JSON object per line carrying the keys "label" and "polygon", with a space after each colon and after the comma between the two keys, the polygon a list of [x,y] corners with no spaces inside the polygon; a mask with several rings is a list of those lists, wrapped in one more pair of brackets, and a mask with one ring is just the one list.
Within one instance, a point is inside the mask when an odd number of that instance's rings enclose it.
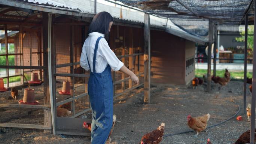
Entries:
{"label": "strip of green grass in the right background beyond the yard", "polygon": [[[224,77],[225,70],[216,70],[216,76]],[[231,79],[244,79],[244,71],[229,71],[231,75]],[[207,75],[207,70],[196,69],[195,76],[203,77],[203,75]],[[213,75],[213,71],[211,71],[211,75]],[[252,72],[247,72],[247,77],[252,77]]]}

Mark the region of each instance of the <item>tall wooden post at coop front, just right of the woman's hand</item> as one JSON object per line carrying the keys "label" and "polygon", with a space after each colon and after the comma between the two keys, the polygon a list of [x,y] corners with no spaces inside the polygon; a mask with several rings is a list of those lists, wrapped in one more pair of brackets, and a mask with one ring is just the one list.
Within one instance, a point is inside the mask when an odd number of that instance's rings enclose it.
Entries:
{"label": "tall wooden post at coop front, just right of the woman's hand", "polygon": [[150,103],[150,20],[144,14],[144,103]]}

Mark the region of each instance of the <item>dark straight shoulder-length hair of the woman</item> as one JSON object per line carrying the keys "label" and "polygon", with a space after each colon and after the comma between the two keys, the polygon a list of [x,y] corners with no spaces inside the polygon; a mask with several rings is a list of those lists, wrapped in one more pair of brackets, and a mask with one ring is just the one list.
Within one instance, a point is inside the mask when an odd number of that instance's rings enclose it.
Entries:
{"label": "dark straight shoulder-length hair of the woman", "polygon": [[[105,34],[105,39],[109,40],[109,23],[113,21],[113,17],[108,12],[100,12],[94,16],[89,25],[88,34],[98,32]],[[88,37],[87,34],[87,37]]]}

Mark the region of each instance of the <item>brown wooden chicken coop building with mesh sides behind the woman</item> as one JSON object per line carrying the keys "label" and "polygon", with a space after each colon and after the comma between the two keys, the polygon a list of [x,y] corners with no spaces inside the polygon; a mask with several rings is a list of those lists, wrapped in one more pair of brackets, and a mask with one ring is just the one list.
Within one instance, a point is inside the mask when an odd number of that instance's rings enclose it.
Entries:
{"label": "brown wooden chicken coop building with mesh sides behind the woman", "polygon": [[[53,5],[12,0],[7,0],[1,5],[1,59],[3,59],[3,65],[0,67],[1,77],[6,89],[22,88],[15,101],[8,98],[9,91],[4,92],[6,96],[1,101],[1,107],[7,109],[3,109],[1,115],[5,117],[5,114],[10,112],[8,111],[10,107],[23,107],[27,111],[25,114],[20,114],[23,110],[16,108],[17,110],[13,111],[14,116],[8,119],[1,118],[0,126],[20,127],[16,125],[20,123],[23,128],[51,129],[51,121],[54,120],[51,120],[51,113],[57,113],[56,132],[67,134],[68,132],[60,125],[69,120],[79,121],[74,118],[90,109],[86,84],[88,72],[85,73],[80,67],[79,60],[88,26],[94,14],[75,10],[73,5],[67,8]],[[98,7],[101,9],[104,5],[98,4]],[[127,19],[115,17],[109,39],[110,48],[141,81],[140,85],[133,85],[125,74],[112,72],[115,97],[144,84],[145,47],[151,47],[151,50],[146,50],[151,53],[149,62],[151,83],[186,85],[192,80],[195,75],[195,43],[205,43],[206,40],[186,33],[178,27],[174,30],[165,28],[161,25],[162,19],[155,17],[152,18],[152,24],[150,23],[148,39],[157,42],[145,46],[143,22],[129,20],[138,13],[130,13],[131,16],[128,17],[126,14],[128,10],[121,9],[122,12],[119,13],[120,8],[113,7],[113,9],[113,12],[118,13],[118,17],[126,16]],[[51,46],[51,54],[49,54],[49,46]],[[34,77],[37,77],[36,80]],[[25,87],[28,85],[34,89],[36,102],[39,105],[18,104],[24,101],[24,91],[27,91]],[[70,85],[70,88],[67,86],[67,91],[71,91],[70,94],[61,94],[60,91],[65,89],[64,85]],[[49,109],[51,95],[54,110]],[[56,107],[67,103],[71,105],[68,106],[72,111],[71,116],[69,119],[58,117]],[[34,111],[33,108],[39,110]],[[43,109],[45,112],[39,114]],[[33,114],[28,114],[32,110]],[[18,117],[22,118],[19,122],[13,123],[12,119]],[[37,120],[26,122],[27,117],[35,117]],[[67,128],[70,126],[67,125]],[[86,135],[85,132],[76,134]]]}

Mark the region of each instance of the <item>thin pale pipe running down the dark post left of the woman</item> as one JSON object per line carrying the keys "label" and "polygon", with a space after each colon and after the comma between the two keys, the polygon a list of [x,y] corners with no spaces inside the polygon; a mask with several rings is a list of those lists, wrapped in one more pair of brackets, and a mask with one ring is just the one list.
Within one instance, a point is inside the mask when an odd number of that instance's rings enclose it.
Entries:
{"label": "thin pale pipe running down the dark post left of the woman", "polygon": [[52,113],[52,129],[53,129],[54,135],[56,135],[54,102],[53,102],[53,91],[52,91],[52,55],[51,55],[52,43],[51,42],[52,42],[52,13],[49,13],[49,21],[48,21],[48,74],[49,74],[49,90],[50,90],[50,101],[51,101],[51,113]]}

